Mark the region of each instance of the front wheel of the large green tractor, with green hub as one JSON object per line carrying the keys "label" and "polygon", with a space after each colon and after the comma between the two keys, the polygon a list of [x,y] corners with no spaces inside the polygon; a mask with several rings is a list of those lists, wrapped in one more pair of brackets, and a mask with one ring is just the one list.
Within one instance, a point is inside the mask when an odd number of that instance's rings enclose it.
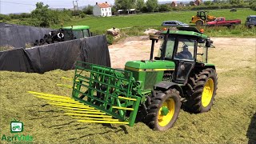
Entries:
{"label": "front wheel of the large green tractor, with green hub", "polygon": [[146,124],[154,130],[168,130],[174,126],[182,105],[178,90],[158,91],[147,107]]}

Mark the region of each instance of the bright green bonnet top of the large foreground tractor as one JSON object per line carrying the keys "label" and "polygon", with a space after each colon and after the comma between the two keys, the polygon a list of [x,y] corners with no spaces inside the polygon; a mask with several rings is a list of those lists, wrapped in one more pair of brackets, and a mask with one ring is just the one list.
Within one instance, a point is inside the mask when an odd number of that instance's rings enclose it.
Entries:
{"label": "bright green bonnet top of the large foreground tractor", "polygon": [[130,61],[126,62],[126,66],[135,68],[135,69],[174,69],[175,64],[171,61],[162,61],[162,60],[154,60],[154,61]]}

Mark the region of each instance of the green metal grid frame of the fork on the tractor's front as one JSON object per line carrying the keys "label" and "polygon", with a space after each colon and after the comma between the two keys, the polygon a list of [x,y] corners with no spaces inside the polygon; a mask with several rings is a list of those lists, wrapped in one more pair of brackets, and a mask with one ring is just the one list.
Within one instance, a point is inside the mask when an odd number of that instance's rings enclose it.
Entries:
{"label": "green metal grid frame of the fork on the tractor's front", "polygon": [[[72,98],[110,114],[120,121],[129,122],[129,126],[134,126],[142,98],[142,96],[138,97],[139,90],[134,91],[136,88],[138,84],[130,71],[76,62]],[[118,96],[134,98],[136,101]],[[126,117],[128,110],[116,109],[113,106],[131,107],[134,110],[129,117]]]}

